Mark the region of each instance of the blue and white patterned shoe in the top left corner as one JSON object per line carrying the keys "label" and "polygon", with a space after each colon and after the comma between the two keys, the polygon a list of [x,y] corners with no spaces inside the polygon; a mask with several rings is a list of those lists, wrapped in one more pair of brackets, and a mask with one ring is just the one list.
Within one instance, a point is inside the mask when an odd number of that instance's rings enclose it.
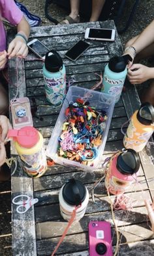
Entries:
{"label": "blue and white patterned shoe in the top left corner", "polygon": [[14,0],[14,2],[16,3],[16,5],[18,6],[18,8],[23,12],[23,16],[25,17],[25,19],[27,20],[27,22],[29,23],[29,26],[31,27],[36,27],[40,25],[41,19],[40,17],[38,17],[37,15],[31,14],[24,5],[22,5],[21,3],[18,3],[16,0]]}

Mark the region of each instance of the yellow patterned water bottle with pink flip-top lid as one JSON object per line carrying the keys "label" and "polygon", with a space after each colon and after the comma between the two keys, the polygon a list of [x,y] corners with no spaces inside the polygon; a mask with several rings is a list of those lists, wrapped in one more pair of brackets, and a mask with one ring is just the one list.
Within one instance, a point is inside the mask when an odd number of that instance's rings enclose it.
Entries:
{"label": "yellow patterned water bottle with pink flip-top lid", "polygon": [[33,178],[42,176],[47,169],[46,154],[43,146],[42,135],[31,126],[25,126],[21,129],[10,129],[7,137],[12,137],[14,146],[23,170]]}

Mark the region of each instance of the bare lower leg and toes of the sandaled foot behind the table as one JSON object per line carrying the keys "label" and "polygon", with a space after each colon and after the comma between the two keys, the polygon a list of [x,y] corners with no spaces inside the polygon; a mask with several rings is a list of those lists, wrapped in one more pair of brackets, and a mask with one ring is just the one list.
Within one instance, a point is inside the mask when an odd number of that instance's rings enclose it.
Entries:
{"label": "bare lower leg and toes of the sandaled foot behind the table", "polygon": [[[79,18],[80,0],[70,0],[70,14],[69,16],[76,22],[80,22]],[[66,24],[69,24],[68,20],[63,20]]]}

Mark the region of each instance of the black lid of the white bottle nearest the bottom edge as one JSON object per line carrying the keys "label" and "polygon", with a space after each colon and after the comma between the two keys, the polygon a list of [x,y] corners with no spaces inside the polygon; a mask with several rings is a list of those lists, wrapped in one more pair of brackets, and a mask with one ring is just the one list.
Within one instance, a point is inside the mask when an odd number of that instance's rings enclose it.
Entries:
{"label": "black lid of the white bottle nearest the bottom edge", "polygon": [[63,187],[63,199],[70,205],[80,205],[86,196],[86,189],[82,182],[69,179]]}

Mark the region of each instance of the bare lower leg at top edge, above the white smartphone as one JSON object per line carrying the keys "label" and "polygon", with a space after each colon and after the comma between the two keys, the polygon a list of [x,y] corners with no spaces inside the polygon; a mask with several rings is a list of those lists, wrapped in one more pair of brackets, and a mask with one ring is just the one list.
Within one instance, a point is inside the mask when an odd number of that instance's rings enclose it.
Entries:
{"label": "bare lower leg at top edge, above the white smartphone", "polygon": [[100,12],[102,11],[104,3],[105,0],[93,0],[91,18],[89,20],[90,22],[95,22],[99,20]]}

